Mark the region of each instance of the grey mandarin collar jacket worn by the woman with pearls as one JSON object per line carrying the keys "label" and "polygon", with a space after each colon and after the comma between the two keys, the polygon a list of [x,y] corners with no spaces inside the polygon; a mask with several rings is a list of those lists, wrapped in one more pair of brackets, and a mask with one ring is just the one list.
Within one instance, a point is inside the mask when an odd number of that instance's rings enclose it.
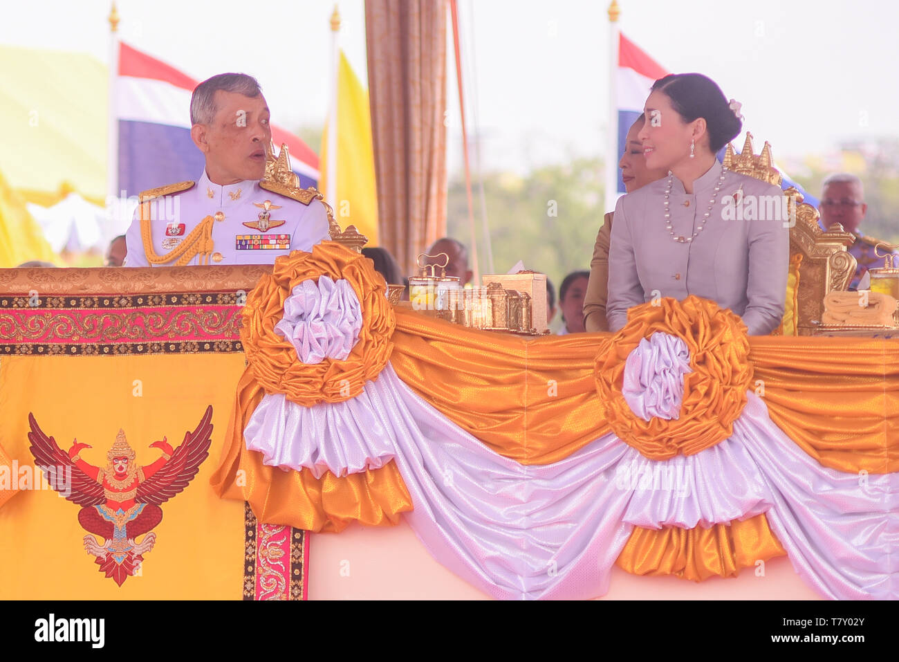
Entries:
{"label": "grey mandarin collar jacket worn by the woman with pearls", "polygon": [[[673,178],[670,199],[675,237],[691,237],[723,167],[717,161],[693,183],[693,193]],[[728,171],[704,228],[678,243],[665,228],[668,177],[619,199],[609,254],[611,331],[628,321],[628,309],[654,297],[714,300],[743,318],[750,335],[767,335],[784,314],[789,266],[789,223],[777,186]],[[733,195],[743,187],[743,200]],[[752,200],[754,198],[754,201]],[[722,201],[730,201],[729,209]],[[752,207],[752,209],[751,209]],[[769,218],[771,217],[771,218]]]}

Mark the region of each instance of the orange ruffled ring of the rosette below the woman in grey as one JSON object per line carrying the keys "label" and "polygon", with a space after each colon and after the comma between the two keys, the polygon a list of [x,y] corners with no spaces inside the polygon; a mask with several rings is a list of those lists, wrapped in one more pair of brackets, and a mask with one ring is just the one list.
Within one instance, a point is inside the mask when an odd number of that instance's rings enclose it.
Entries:
{"label": "orange ruffled ring of the rosette below the woman in grey", "polygon": [[[645,421],[631,411],[621,392],[625,362],[643,338],[676,335],[690,350],[691,372],[683,376],[678,418]],[[603,338],[593,378],[612,431],[650,460],[704,451],[733,434],[752,382],[749,339],[743,320],[714,301],[691,295],[655,300],[628,311],[628,324]]]}

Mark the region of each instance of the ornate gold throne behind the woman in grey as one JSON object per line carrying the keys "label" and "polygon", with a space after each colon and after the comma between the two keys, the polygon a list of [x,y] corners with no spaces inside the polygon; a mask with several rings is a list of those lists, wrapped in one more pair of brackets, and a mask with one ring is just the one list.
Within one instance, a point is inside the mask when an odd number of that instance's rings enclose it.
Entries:
{"label": "ornate gold throne behind the woman in grey", "polygon": [[[743,151],[736,154],[733,144],[725,150],[724,165],[739,174],[748,174],[763,182],[780,186],[783,175],[774,167],[768,142],[756,155],[752,133],[746,132]],[[849,252],[855,237],[839,224],[826,232],[818,225],[818,210],[803,201],[802,193],[790,186],[784,194],[796,224],[789,231],[790,273],[787,309],[779,329],[786,335],[812,335],[824,311],[824,297],[832,291],[845,291],[856,269]]]}

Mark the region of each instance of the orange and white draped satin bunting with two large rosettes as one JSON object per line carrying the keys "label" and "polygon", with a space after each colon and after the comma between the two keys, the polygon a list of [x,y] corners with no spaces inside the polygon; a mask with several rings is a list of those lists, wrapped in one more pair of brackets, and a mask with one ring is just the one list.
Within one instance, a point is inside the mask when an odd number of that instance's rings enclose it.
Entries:
{"label": "orange and white draped satin bunting with two large rosettes", "polygon": [[314,531],[404,516],[500,598],[783,554],[827,597],[899,593],[896,341],[748,337],[693,297],[529,341],[390,309],[383,287],[328,243],[260,281],[219,493]]}

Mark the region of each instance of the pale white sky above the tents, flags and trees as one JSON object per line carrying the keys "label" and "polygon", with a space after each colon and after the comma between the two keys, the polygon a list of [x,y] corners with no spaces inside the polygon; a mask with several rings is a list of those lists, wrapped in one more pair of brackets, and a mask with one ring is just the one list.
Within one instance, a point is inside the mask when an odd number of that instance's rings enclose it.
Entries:
{"label": "pale white sky above the tents, flags and trees", "polygon": [[[743,103],[748,127],[771,142],[779,159],[830,153],[845,139],[899,135],[899,3],[619,5],[622,31],[663,67],[715,79]],[[608,3],[459,0],[459,6],[468,121],[474,124],[476,110],[485,168],[525,170],[575,154],[603,156]],[[4,3],[0,43],[86,51],[105,62],[109,7],[108,0]],[[223,71],[257,76],[274,121],[295,129],[325,119],[333,8],[325,0],[120,0],[120,33],[198,79]],[[340,11],[343,49],[365,80],[363,2],[342,0]],[[453,170],[460,138],[451,60],[449,72]]]}

